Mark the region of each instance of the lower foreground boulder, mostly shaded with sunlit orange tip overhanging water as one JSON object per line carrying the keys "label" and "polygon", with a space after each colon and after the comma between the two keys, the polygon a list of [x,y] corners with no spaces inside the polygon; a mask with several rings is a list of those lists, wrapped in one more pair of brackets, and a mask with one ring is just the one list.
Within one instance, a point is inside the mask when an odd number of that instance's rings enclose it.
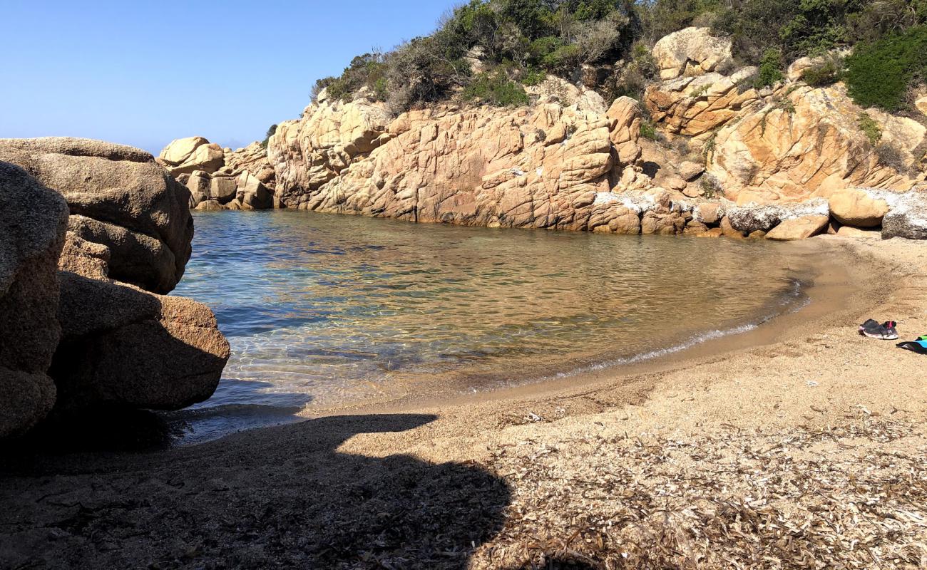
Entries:
{"label": "lower foreground boulder, mostly shaded with sunlit orange tip overhanging water", "polygon": [[179,410],[208,399],[229,358],[212,311],[188,298],[61,272],[58,408]]}

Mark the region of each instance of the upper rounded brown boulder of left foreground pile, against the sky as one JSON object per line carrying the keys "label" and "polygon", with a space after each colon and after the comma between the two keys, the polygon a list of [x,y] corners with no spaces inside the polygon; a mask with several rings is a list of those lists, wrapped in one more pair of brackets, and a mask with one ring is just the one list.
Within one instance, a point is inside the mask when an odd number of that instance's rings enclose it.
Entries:
{"label": "upper rounded brown boulder of left foreground pile, against the sky", "polygon": [[0,160],[65,197],[70,231],[110,250],[114,279],[168,293],[190,259],[189,193],[146,152],[72,138],[0,139]]}

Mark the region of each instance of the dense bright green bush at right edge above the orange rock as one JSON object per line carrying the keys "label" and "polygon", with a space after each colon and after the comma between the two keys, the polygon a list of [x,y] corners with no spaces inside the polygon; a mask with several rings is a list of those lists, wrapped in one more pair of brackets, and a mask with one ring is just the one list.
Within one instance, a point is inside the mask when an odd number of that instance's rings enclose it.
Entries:
{"label": "dense bright green bush at right edge above the orange rock", "polygon": [[846,58],[846,87],[861,107],[905,108],[908,86],[927,71],[927,26],[910,28],[872,44],[857,45]]}

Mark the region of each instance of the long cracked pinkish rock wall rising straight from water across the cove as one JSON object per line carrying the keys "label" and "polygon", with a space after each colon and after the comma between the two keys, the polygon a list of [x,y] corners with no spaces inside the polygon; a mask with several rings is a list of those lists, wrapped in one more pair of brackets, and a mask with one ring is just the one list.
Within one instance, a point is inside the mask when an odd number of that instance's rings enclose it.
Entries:
{"label": "long cracked pinkish rock wall rising straight from water across the cove", "polygon": [[[446,106],[387,124],[380,110],[358,116],[371,108],[322,103],[278,127],[269,157],[286,207],[595,230],[628,213],[613,190],[649,187],[636,165],[640,109],[627,97],[604,115],[553,103],[515,110]],[[347,120],[346,132],[318,132],[336,116]]]}

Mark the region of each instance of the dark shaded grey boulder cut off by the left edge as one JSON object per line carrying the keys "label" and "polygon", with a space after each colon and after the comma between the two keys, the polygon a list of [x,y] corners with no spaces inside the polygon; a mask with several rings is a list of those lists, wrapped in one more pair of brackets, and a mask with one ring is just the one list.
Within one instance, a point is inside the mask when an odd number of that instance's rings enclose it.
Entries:
{"label": "dark shaded grey boulder cut off by the left edge", "polygon": [[0,437],[29,429],[55,403],[45,373],[60,335],[57,260],[67,224],[64,198],[0,162]]}

